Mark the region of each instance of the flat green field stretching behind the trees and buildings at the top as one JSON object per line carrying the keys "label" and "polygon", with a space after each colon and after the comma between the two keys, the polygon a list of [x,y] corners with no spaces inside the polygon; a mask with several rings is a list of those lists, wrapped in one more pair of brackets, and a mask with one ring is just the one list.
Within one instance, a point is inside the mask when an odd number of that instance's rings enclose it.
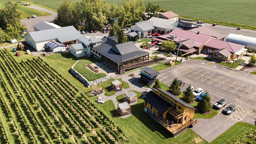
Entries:
{"label": "flat green field stretching behind the trees and buildings at the top", "polygon": [[[0,2],[5,1],[6,0],[0,0]],[[72,0],[71,2],[75,3],[79,1],[80,0]],[[57,10],[62,1],[31,0],[30,2]],[[122,3],[122,1],[119,0],[107,0],[107,2],[116,3],[118,6]],[[239,23],[248,26],[256,26],[256,19],[252,19],[256,17],[256,13],[254,13],[254,5],[256,5],[256,1],[253,0],[184,0],[179,1],[179,3],[174,0],[145,0],[144,4],[146,5],[147,3],[158,4],[162,9],[173,11],[180,15],[180,17],[185,16],[191,18],[201,18],[222,22]]]}

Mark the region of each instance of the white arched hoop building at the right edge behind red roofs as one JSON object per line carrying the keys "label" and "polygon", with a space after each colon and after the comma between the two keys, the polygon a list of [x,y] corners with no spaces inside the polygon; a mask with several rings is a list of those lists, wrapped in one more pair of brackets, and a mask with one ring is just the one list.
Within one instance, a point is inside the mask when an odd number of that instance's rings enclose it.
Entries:
{"label": "white arched hoop building at the right edge behind red roofs", "polygon": [[256,38],[254,37],[229,34],[228,37],[226,38],[226,41],[245,45],[247,49],[256,50]]}

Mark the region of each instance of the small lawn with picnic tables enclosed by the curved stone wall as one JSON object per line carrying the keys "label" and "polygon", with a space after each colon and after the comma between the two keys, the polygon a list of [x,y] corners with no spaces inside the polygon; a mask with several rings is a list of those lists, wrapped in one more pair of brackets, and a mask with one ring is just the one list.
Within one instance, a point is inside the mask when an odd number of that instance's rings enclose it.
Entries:
{"label": "small lawn with picnic tables enclosed by the curved stone wall", "polygon": [[76,63],[74,69],[76,69],[77,72],[84,76],[88,81],[94,81],[96,79],[105,77],[106,74],[94,74],[92,70],[90,70],[88,67],[85,67],[85,64],[91,64],[96,61],[97,59],[81,59],[79,62]]}

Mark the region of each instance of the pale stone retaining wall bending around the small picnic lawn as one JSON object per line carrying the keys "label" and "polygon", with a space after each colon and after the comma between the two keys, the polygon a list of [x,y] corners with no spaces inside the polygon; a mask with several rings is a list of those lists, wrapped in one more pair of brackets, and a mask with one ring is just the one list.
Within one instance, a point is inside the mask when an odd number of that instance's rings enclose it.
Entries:
{"label": "pale stone retaining wall bending around the small picnic lawn", "polygon": [[[80,60],[77,60],[77,62],[79,62]],[[76,65],[76,63],[69,69],[70,70],[70,73],[78,79],[78,81],[80,81],[82,84],[84,84],[85,86],[87,87],[90,87],[90,86],[93,86],[93,85],[97,85],[99,83],[102,83],[104,81],[107,81],[108,79],[110,79],[109,76],[105,76],[105,77],[102,77],[102,78],[99,78],[99,79],[96,79],[95,81],[88,81],[84,76],[82,76],[81,74],[79,74],[77,72],[77,70],[74,69],[74,66]]]}

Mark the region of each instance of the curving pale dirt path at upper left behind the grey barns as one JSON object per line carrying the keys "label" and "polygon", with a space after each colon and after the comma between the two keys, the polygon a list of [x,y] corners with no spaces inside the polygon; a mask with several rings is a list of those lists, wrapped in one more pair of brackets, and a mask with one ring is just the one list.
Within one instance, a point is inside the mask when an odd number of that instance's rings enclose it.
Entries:
{"label": "curving pale dirt path at upper left behind the grey barns", "polygon": [[36,25],[37,23],[42,22],[42,21],[52,22],[58,16],[57,12],[44,9],[43,7],[40,7],[40,6],[30,5],[28,7],[52,14],[52,15],[44,16],[44,17],[36,17],[36,18],[31,18],[31,19],[21,19],[20,22],[27,28],[28,32],[34,31],[33,26]]}

